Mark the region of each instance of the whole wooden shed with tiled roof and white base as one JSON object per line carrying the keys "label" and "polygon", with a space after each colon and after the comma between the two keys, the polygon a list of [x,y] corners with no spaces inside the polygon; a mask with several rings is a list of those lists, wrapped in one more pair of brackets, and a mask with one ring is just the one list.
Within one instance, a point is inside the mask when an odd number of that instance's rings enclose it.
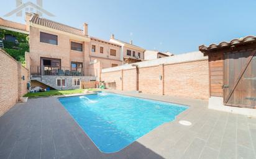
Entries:
{"label": "whole wooden shed with tiled roof and white base", "polygon": [[199,50],[209,57],[209,108],[255,115],[256,37],[202,45]]}

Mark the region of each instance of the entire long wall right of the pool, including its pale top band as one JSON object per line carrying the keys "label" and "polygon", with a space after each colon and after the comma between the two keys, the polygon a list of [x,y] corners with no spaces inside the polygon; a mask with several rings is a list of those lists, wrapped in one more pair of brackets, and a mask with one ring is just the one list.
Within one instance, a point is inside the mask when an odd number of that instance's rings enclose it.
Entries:
{"label": "entire long wall right of the pool, including its pale top band", "polygon": [[208,58],[201,53],[175,56],[135,63],[139,67],[138,80],[134,65],[103,69],[101,80],[116,82],[119,90],[136,90],[138,84],[143,93],[207,99]]}

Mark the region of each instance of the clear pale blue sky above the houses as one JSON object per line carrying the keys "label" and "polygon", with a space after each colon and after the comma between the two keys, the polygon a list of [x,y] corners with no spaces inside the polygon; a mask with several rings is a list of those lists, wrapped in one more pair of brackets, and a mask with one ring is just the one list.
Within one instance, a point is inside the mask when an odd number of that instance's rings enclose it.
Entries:
{"label": "clear pale blue sky above the houses", "polygon": [[[55,15],[43,15],[44,18],[81,29],[87,23],[90,36],[109,40],[114,33],[119,40],[133,40],[134,45],[142,48],[174,54],[198,51],[199,45],[256,35],[255,0],[42,1],[43,9]],[[24,17],[15,14],[4,16],[16,8],[16,0],[0,2],[0,17],[25,23]]]}

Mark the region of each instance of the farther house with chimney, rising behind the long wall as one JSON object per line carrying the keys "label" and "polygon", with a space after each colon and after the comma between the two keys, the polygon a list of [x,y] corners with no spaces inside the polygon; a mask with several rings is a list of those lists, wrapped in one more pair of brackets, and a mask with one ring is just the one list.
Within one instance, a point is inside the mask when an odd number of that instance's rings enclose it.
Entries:
{"label": "farther house with chimney, rising behind the long wall", "polygon": [[144,59],[145,49],[140,48],[139,46],[133,45],[132,40],[130,40],[130,43],[127,43],[125,41],[116,39],[114,37],[114,34],[112,34],[109,41],[122,46],[120,58],[121,58],[121,61],[123,61],[123,64],[140,62]]}

